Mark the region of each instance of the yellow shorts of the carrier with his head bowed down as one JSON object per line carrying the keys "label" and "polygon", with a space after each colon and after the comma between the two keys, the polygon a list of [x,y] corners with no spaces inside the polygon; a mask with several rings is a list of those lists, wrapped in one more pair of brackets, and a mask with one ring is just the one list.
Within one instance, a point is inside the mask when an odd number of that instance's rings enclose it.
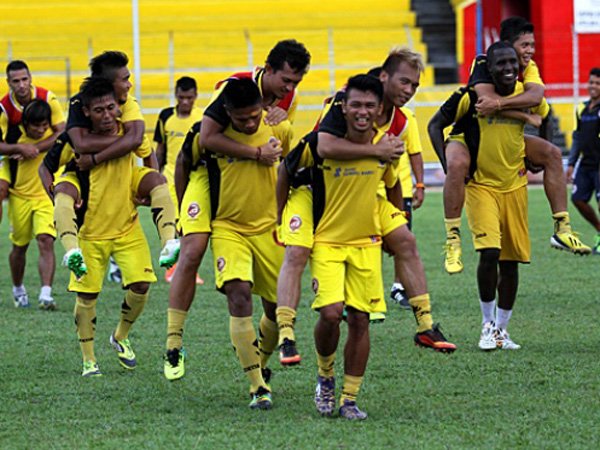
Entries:
{"label": "yellow shorts of the carrier with his head bowed down", "polygon": [[285,250],[275,239],[274,226],[253,236],[214,228],[210,244],[217,289],[221,290],[228,281],[248,281],[253,294],[276,303],[277,278]]}

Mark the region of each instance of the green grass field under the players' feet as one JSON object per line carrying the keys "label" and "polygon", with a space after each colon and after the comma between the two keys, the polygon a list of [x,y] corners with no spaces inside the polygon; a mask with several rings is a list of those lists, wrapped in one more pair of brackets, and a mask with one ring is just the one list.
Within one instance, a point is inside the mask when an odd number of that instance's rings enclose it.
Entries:
{"label": "green grass field under the players' feet", "polygon": [[[412,314],[390,304],[386,322],[371,329],[371,359],[359,396],[369,413],[364,423],[321,418],[314,410],[316,316],[309,308],[308,274],[297,322],[303,363],[283,369],[273,360],[274,409],[251,411],[247,383],[229,342],[226,302],[213,288],[210,255],[202,266],[206,284],[198,289],[187,322],[183,380],[170,383],[162,376],[168,294],[162,271],[131,333],[138,368],[125,372],[109,348],[122,292],[107,285],[96,336],[104,377],[84,379],[66,270],[57,269],[58,311],[15,309],[4,220],[0,448],[597,448],[600,258],[551,250],[552,222],[543,192],[532,189],[530,203],[533,259],[521,269],[510,326],[522,349],[483,353],[477,348],[476,255],[465,238],[465,272],[453,277],[443,272],[441,195],[428,194],[415,215],[415,231],[434,319],[459,349],[444,355],[414,347]],[[591,227],[576,212],[572,216],[591,242]],[[146,211],[143,218],[157,255],[158,239]],[[468,236],[466,223],[463,234]],[[32,248],[26,275],[33,302],[38,295],[35,254]],[[386,257],[386,291],[390,283]],[[341,357],[336,370],[342,373]]]}

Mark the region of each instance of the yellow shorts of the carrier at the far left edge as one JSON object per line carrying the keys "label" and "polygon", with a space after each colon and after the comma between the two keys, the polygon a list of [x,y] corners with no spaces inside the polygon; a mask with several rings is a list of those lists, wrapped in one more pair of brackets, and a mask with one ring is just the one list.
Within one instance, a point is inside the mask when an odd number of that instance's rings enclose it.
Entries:
{"label": "yellow shorts of the carrier at the far left edge", "polygon": [[36,236],[48,234],[56,237],[54,228],[54,205],[47,196],[26,199],[8,196],[9,238],[18,247],[24,247]]}

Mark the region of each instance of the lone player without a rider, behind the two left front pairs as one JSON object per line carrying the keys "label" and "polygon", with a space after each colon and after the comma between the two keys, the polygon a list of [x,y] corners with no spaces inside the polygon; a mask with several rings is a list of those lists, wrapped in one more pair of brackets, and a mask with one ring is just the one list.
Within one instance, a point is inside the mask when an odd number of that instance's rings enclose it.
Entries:
{"label": "lone player without a rider, behind the two left front pairs", "polygon": [[[178,79],[175,84],[177,104],[165,108],[159,113],[154,130],[158,167],[167,179],[177,218],[179,218],[179,205],[175,193],[175,162],[187,132],[192,125],[202,119],[202,111],[194,106],[197,97],[196,80],[190,77]],[[171,282],[176,267],[173,265],[165,272],[167,282]],[[198,275],[196,275],[196,282],[202,283]]]}

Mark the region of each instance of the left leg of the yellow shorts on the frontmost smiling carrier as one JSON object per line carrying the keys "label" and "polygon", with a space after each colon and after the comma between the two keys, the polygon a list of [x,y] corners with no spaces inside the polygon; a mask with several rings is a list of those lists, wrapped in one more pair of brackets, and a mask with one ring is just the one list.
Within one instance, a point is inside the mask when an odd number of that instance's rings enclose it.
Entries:
{"label": "left leg of the yellow shorts on the frontmost smiling carrier", "polygon": [[344,280],[346,277],[345,247],[329,247],[315,244],[310,257],[312,288],[315,299],[313,309],[321,309],[344,301]]}

